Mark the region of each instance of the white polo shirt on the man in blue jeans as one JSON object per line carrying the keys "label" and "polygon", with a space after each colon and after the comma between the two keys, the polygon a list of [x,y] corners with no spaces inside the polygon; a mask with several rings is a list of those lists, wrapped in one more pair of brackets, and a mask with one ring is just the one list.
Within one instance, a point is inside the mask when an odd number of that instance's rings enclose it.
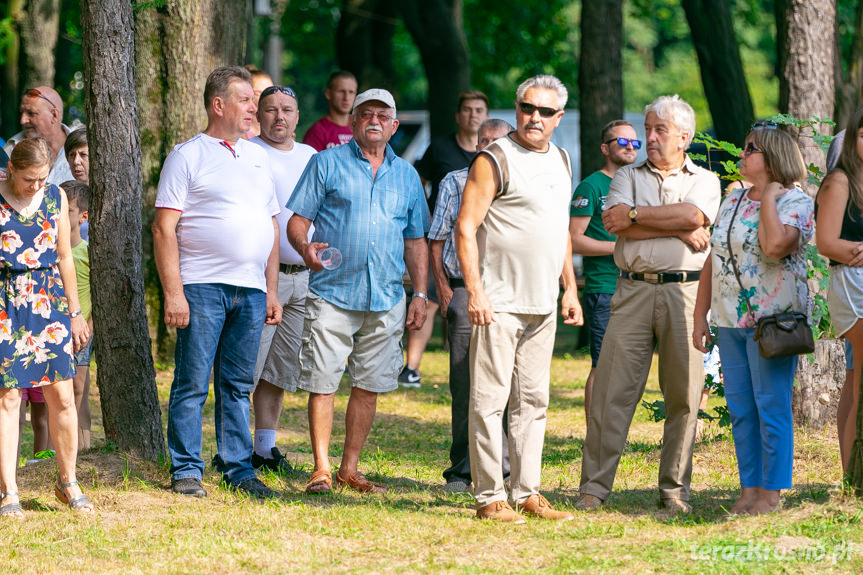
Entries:
{"label": "white polo shirt on the man in blue jeans", "polygon": [[263,148],[242,139],[228,145],[206,134],[179,144],[162,166],[156,207],[182,212],[177,242],[183,285],[266,291],[279,204]]}

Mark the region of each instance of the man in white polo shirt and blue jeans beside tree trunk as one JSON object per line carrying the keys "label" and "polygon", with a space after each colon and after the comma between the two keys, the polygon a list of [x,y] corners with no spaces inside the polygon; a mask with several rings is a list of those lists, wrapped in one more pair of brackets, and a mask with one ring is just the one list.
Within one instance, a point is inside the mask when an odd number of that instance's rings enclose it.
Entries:
{"label": "man in white polo shirt and blue jeans beside tree trunk", "polygon": [[272,497],[252,468],[249,392],[261,328],[282,317],[279,205],[266,151],[242,139],[257,111],[248,70],[213,70],[204,103],[206,130],[176,146],[162,167],[153,223],[165,323],[177,328],[171,489],[207,495],[201,419],[212,369],[222,477],[248,495]]}

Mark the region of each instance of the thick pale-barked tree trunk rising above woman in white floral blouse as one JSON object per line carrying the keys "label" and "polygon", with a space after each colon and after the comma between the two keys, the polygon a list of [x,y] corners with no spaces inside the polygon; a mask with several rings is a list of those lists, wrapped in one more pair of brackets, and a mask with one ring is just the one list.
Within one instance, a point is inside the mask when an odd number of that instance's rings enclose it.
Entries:
{"label": "thick pale-barked tree trunk rising above woman in white floral blouse", "polygon": [[[833,114],[833,54],[836,46],[835,0],[776,0],[779,110],[807,120]],[[812,139],[813,128],[789,127],[797,137],[806,165],[824,170],[825,152]],[[829,126],[815,125],[826,134]],[[815,186],[803,182],[815,194]]]}

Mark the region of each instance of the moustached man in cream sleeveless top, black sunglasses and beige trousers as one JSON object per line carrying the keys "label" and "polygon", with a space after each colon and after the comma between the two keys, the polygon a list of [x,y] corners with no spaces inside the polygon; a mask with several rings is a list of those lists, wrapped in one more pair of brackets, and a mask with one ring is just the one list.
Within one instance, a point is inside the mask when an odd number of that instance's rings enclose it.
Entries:
{"label": "moustached man in cream sleeveless top, black sunglasses and beige trousers", "polygon": [[510,499],[524,514],[569,520],[539,493],[549,368],[561,302],[565,323],[582,323],[572,269],[569,155],[551,143],[566,87],[534,76],[516,92],[516,131],[473,162],[456,223],[468,296],[470,467],[477,517],[524,523],[507,503],[501,471],[509,401]]}

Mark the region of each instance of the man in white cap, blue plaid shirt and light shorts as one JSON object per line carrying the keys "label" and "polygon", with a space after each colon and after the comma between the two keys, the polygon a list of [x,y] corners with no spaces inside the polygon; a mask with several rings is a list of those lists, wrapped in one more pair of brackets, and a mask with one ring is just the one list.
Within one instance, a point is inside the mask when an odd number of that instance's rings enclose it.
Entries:
{"label": "man in white cap, blue plaid shirt and light shorts", "polygon": [[[352,389],[336,484],[365,493],[386,491],[366,479],[357,463],[377,395],[398,387],[404,327],[422,327],[428,304],[426,294],[414,292],[405,306],[405,265],[413,285],[427,285],[424,236],[430,221],[419,175],[388,144],[399,123],[392,94],[372,89],[358,95],[350,123],[353,139],[312,156],[286,205],[294,212],[288,240],[312,270],[297,382],[309,392],[315,467],[307,493],[332,488],[329,444],[345,361]],[[318,253],[328,246],[342,253],[337,269],[321,264]]]}

